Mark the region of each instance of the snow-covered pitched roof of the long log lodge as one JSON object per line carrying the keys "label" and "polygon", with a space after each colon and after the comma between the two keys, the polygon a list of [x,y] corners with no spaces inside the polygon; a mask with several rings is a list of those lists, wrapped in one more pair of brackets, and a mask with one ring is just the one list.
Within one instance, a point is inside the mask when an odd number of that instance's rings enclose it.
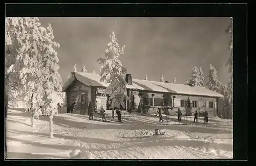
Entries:
{"label": "snow-covered pitched roof of the long log lodge", "polygon": [[[63,91],[65,91],[68,88],[68,86],[75,80],[75,78],[78,81],[88,86],[102,86],[102,87],[109,86],[109,84],[103,81],[100,82],[101,76],[98,74],[77,72],[72,74],[72,76],[68,79],[68,81],[63,85]],[[132,85],[126,84],[126,88],[223,98],[222,94],[209,90],[205,87],[199,87],[199,86],[192,87],[184,84],[174,84],[174,83],[147,81],[147,80],[139,80],[139,79],[133,79],[133,84]]]}

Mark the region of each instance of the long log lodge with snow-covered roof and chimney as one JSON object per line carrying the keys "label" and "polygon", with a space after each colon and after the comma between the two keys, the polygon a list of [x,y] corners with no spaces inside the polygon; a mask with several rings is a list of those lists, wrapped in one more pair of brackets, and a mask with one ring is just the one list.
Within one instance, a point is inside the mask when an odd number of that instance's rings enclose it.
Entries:
{"label": "long log lodge with snow-covered roof and chimney", "polygon": [[[71,77],[63,85],[68,109],[74,102],[74,113],[86,113],[89,102],[95,109],[100,109],[100,106],[109,109],[109,96],[103,95],[108,84],[100,82],[100,78],[98,74],[71,72]],[[130,74],[126,75],[125,81],[131,103],[126,101],[124,108],[120,105],[121,110],[142,108],[143,113],[156,113],[158,108],[162,108],[165,112],[176,114],[180,108],[187,115],[196,110],[207,110],[209,115],[217,115],[219,98],[223,98],[222,94],[205,87],[133,79]],[[173,110],[170,109],[172,107]]]}

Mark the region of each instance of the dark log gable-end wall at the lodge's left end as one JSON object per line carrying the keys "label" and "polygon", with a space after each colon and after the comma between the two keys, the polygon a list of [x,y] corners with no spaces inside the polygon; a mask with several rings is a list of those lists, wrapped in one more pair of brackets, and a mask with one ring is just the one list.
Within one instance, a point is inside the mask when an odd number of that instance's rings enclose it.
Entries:
{"label": "dark log gable-end wall at the lodge's left end", "polygon": [[81,93],[86,93],[86,109],[88,108],[89,102],[91,102],[91,86],[84,85],[82,82],[75,80],[67,89],[67,106],[70,106],[76,101],[79,95],[78,102],[74,113],[80,113],[81,111]]}

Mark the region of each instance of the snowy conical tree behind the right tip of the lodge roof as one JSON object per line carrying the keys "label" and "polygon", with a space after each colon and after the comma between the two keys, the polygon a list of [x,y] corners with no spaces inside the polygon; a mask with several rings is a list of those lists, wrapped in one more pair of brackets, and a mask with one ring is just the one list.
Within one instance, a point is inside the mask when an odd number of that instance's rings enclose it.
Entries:
{"label": "snowy conical tree behind the right tip of the lodge roof", "polygon": [[210,64],[209,67],[209,75],[207,76],[209,78],[209,81],[206,83],[206,85],[209,87],[210,90],[220,92],[220,81],[219,77],[217,75],[216,68]]}

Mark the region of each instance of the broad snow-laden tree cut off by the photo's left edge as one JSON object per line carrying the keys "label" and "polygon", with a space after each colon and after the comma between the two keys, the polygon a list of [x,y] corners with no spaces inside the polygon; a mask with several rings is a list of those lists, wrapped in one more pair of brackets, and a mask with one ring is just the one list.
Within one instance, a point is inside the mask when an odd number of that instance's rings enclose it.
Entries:
{"label": "broad snow-laden tree cut off by the photo's left edge", "polygon": [[47,37],[43,31],[37,17],[6,18],[7,83],[15,87],[15,93],[24,97],[31,108],[31,126],[34,117],[38,117],[44,93],[41,50],[45,45],[41,41]]}

